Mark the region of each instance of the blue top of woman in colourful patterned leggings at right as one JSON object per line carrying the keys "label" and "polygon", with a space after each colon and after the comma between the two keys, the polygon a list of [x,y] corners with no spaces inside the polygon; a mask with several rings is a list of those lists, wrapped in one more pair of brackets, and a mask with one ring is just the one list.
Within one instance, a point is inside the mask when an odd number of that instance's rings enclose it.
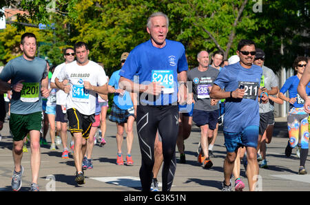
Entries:
{"label": "blue top of woman in colourful patterned leggings at right", "polygon": [[[290,107],[303,107],[304,106],[304,99],[302,99],[302,97],[300,97],[300,95],[297,92],[297,87],[299,84],[300,79],[298,78],[298,76],[291,76],[289,78],[287,78],[287,80],[285,81],[285,84],[281,87],[280,92],[282,94],[285,94],[287,92],[287,90],[289,91],[289,98],[296,98],[296,102],[292,105],[289,104]],[[309,96],[310,94],[310,83],[308,83],[308,85],[306,86],[306,92]]]}

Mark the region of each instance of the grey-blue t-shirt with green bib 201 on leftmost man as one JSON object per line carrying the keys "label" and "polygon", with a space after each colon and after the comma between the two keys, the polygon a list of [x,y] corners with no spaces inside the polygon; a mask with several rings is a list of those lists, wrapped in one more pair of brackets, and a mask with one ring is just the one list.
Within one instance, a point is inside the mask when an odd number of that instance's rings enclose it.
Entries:
{"label": "grey-blue t-shirt with green bib 201 on leftmost man", "polygon": [[23,56],[12,59],[3,68],[0,79],[12,85],[25,80],[21,92],[13,91],[11,112],[13,114],[32,114],[42,111],[41,80],[48,76],[46,61],[35,57],[28,61]]}

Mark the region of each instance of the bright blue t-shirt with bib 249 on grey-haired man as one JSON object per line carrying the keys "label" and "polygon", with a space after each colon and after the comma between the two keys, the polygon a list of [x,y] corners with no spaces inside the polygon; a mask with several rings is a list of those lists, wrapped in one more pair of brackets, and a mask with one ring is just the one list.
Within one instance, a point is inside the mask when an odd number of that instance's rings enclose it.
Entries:
{"label": "bright blue t-shirt with bib 249 on grey-haired man", "polygon": [[139,84],[156,81],[165,86],[159,96],[141,94],[141,105],[176,104],[178,100],[178,73],[188,69],[185,47],[177,41],[165,41],[162,48],[154,47],[151,40],[136,46],[119,72],[120,76],[130,80],[138,76]]}

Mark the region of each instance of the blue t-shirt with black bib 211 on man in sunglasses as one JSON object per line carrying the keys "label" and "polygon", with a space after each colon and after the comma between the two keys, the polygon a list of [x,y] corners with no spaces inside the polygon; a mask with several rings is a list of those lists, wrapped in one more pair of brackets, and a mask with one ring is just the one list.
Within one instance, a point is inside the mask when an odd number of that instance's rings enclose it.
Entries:
{"label": "blue t-shirt with black bib 211 on man in sunglasses", "polygon": [[226,99],[224,131],[239,133],[246,127],[259,126],[258,88],[261,76],[260,66],[252,65],[246,69],[239,62],[227,65],[220,71],[214,84],[225,91],[234,91],[242,83],[246,90],[243,98]]}

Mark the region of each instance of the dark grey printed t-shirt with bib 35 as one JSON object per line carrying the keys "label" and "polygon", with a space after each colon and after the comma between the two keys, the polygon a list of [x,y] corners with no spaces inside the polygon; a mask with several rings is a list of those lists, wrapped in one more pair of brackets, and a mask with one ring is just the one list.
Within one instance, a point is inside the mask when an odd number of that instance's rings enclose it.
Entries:
{"label": "dark grey printed t-shirt with bib 35", "polygon": [[209,88],[212,87],[219,72],[218,69],[211,66],[205,72],[200,72],[198,67],[187,71],[187,80],[192,81],[193,86],[194,109],[204,111],[220,109],[219,104],[210,104],[209,97]]}

